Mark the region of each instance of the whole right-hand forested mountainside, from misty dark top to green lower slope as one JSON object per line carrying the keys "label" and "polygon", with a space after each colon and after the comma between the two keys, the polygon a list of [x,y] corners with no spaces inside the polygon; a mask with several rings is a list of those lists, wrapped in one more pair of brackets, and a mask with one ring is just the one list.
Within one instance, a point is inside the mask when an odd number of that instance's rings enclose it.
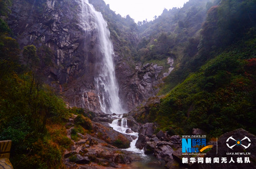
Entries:
{"label": "whole right-hand forested mountainside, from misty dark top to green lower slope", "polygon": [[146,117],[170,134],[190,133],[192,128],[212,136],[238,128],[255,134],[255,7],[255,1],[212,6],[194,55],[187,53],[191,48],[184,51],[180,67],[160,90],[167,95],[137,118]]}

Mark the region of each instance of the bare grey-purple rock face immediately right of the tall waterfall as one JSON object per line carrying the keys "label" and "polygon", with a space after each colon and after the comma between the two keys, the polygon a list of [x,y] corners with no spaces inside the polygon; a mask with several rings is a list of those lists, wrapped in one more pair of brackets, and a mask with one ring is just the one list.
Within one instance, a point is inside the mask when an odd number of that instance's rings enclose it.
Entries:
{"label": "bare grey-purple rock face immediately right of the tall waterfall", "polygon": [[162,66],[149,63],[136,64],[135,71],[131,71],[125,62],[116,67],[117,72],[120,72],[117,74],[117,79],[122,88],[122,100],[128,109],[138,106],[142,101],[156,94],[155,86],[161,81],[162,69]]}

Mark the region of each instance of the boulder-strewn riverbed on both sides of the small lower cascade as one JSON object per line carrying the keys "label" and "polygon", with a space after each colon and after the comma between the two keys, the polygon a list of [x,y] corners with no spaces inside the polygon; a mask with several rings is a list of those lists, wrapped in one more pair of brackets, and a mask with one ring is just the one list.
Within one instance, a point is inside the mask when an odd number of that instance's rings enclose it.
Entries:
{"label": "boulder-strewn riverbed on both sides of the small lower cascade", "polygon": [[[76,125],[73,115],[66,124],[67,136],[72,139],[72,129]],[[138,132],[136,148],[143,150],[144,154],[126,151],[133,138],[127,134],[119,133],[109,124],[115,119],[107,114],[95,114],[92,118],[92,130],[90,133],[77,133],[78,138],[73,141],[71,149],[66,150],[64,154],[65,165],[68,168],[206,168],[206,164],[182,163],[182,158],[190,156],[182,155],[182,138],[179,135],[169,135],[164,131],[156,132],[154,123],[139,124],[132,117],[127,115],[127,127]],[[200,129],[193,129],[190,133],[193,135],[205,135]],[[247,135],[250,140],[256,141],[256,137],[243,129],[238,129],[225,133],[218,139],[219,149],[217,156],[225,156],[223,146],[228,136],[239,137]],[[134,138],[135,139],[135,138]],[[119,142],[118,142],[118,141]],[[210,141],[207,145],[213,145],[212,150],[216,149],[217,142]],[[128,145],[128,146],[127,146]],[[118,148],[119,147],[119,148]],[[226,150],[226,149],[225,149]],[[250,146],[248,152],[254,152],[254,146]],[[207,152],[204,157],[215,157],[216,151]],[[199,156],[198,156],[199,157]],[[200,156],[201,157],[201,156]],[[235,157],[233,157],[235,158]],[[255,157],[250,156],[249,166],[253,166]],[[243,164],[241,164],[243,165]],[[212,168],[218,168],[219,165],[210,165]],[[222,165],[228,168],[228,165]],[[247,165],[246,165],[247,166]]]}

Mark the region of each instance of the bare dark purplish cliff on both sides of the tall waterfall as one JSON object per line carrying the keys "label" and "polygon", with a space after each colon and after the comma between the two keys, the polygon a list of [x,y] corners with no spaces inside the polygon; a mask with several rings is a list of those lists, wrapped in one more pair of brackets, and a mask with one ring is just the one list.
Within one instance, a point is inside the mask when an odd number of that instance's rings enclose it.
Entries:
{"label": "bare dark purplish cliff on both sides of the tall waterfall", "polygon": [[[47,56],[46,51],[51,54],[52,64],[41,66],[45,82],[62,92],[71,106],[100,112],[94,85],[95,63],[101,57],[97,29],[90,23],[86,30],[82,28],[80,3],[79,0],[14,0],[8,24],[21,48],[34,44],[41,60]],[[114,42],[114,50],[120,54],[116,44],[120,42]],[[114,58],[119,94],[127,110],[155,94],[153,86],[160,79],[161,67],[138,64],[134,68],[134,63],[127,64],[122,55]]]}

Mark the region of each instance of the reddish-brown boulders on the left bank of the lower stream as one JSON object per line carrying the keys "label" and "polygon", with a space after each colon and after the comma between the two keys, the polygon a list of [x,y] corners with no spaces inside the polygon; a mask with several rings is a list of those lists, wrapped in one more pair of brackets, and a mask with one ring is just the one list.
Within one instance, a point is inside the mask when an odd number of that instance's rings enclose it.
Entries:
{"label": "reddish-brown boulders on the left bank of the lower stream", "polygon": [[[73,115],[69,119],[67,126],[67,136],[72,139],[72,129],[74,129]],[[96,117],[96,120],[100,117]],[[105,122],[108,119],[105,119]],[[120,133],[114,131],[111,127],[103,123],[93,122],[93,133],[77,133],[78,139],[72,140],[71,150],[66,150],[64,158],[65,165],[68,168],[120,168],[122,164],[129,164],[134,160],[139,160],[140,156],[132,152],[119,149],[115,144],[115,139],[122,137],[123,141],[130,143],[129,137],[120,136]]]}

